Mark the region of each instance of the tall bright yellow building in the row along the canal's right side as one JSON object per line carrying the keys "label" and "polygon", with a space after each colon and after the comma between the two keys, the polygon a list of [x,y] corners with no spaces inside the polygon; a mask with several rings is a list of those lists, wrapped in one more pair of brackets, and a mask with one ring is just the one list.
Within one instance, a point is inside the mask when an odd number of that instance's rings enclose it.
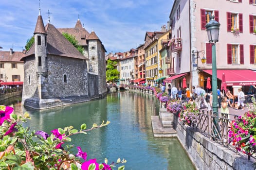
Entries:
{"label": "tall bright yellow building in the row along the canal's right side", "polygon": [[146,82],[153,85],[159,77],[158,73],[158,38],[164,32],[146,32],[145,35],[145,63],[146,63]]}

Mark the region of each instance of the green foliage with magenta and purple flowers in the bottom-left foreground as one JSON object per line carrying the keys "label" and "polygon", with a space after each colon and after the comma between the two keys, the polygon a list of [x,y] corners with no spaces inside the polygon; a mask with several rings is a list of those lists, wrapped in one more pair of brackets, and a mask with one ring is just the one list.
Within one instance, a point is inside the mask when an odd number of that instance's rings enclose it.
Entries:
{"label": "green foliage with magenta and purple flowers in the bottom-left foreground", "polygon": [[[86,129],[86,124],[81,129],[74,129],[73,126],[52,130],[48,135],[43,131],[30,131],[30,128],[23,127],[26,119],[30,119],[28,113],[15,115],[13,108],[0,105],[0,170],[81,170],[78,164],[88,164],[87,153],[78,146],[78,153],[74,156],[70,150],[74,147],[71,136],[86,134],[96,128],[101,128],[110,123],[102,121],[100,125],[93,124],[91,129]],[[65,146],[61,146],[65,143]],[[85,161],[82,162],[81,158]],[[93,159],[94,160],[94,159]],[[105,159],[106,162],[107,159]],[[107,161],[108,162],[108,161]],[[112,162],[111,170],[116,164],[126,163],[126,160],[117,163]],[[105,165],[106,166],[106,165]],[[103,164],[89,165],[89,170],[104,170]],[[82,168],[85,170],[85,168]],[[87,170],[87,169],[86,169]]]}

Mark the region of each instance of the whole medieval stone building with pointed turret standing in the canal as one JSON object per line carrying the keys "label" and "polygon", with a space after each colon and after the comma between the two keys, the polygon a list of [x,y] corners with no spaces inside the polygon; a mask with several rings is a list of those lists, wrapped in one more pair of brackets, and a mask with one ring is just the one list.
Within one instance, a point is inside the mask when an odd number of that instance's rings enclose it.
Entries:
{"label": "whole medieval stone building with pointed turret standing in the canal", "polygon": [[[107,93],[105,48],[95,35],[88,34],[89,39],[85,35],[85,51],[86,46],[94,47],[92,50],[99,54],[90,55],[88,50],[87,57],[86,52],[83,55],[77,51],[54,25],[44,26],[39,10],[35,43],[21,59],[24,61],[22,104],[46,109],[103,97]],[[90,60],[91,70],[88,70]]]}

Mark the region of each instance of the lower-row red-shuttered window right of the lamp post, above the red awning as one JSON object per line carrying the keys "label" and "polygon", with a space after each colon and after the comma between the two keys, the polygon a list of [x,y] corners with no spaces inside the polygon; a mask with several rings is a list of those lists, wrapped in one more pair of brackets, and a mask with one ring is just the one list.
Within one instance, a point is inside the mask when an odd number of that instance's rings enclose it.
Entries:
{"label": "lower-row red-shuttered window right of the lamp post, above the red awning", "polygon": [[243,44],[227,44],[228,64],[244,64]]}

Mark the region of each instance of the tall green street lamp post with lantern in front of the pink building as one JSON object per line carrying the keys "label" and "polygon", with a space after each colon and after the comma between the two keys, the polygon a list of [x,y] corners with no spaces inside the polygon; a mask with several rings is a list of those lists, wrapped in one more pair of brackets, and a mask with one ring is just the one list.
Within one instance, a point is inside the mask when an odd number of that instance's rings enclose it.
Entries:
{"label": "tall green street lamp post with lantern in front of the pink building", "polygon": [[[218,110],[218,94],[217,94],[217,64],[216,64],[216,42],[219,41],[219,22],[214,19],[214,16],[210,17],[210,21],[205,25],[209,43],[212,43],[212,90],[213,90],[213,114],[219,117]],[[214,121],[215,126],[218,129],[218,119]]]}

